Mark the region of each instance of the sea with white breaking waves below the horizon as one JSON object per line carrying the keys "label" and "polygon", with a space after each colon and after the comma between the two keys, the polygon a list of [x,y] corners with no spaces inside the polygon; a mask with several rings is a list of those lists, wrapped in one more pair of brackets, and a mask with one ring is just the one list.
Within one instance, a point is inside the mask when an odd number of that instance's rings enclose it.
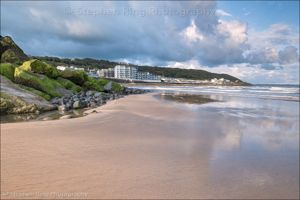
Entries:
{"label": "sea with white breaking waves below the horizon", "polygon": [[151,90],[189,94],[221,94],[230,96],[274,98],[299,101],[299,84],[253,84],[252,86],[129,86]]}

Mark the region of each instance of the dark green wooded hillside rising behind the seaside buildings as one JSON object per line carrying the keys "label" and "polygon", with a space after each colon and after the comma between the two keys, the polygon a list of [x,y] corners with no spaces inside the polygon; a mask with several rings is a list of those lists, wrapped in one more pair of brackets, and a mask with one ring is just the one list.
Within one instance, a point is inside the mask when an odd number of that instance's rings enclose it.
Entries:
{"label": "dark green wooded hillside rising behind the seaside buildings", "polygon": [[[58,57],[48,57],[48,56],[38,56],[39,60],[44,61],[52,66],[59,66],[59,65],[67,65],[67,66],[76,66],[82,68],[112,68],[115,65],[119,65],[118,62],[108,61],[103,59],[91,59],[91,58],[84,58],[84,59],[77,59],[71,60],[69,58],[58,58]],[[138,66],[139,71],[147,71],[152,74],[159,74],[166,77],[175,77],[175,78],[187,78],[187,79],[211,79],[211,78],[225,78],[231,81],[238,80],[241,82],[240,79],[224,74],[224,73],[211,73],[204,70],[199,69],[183,69],[183,68],[171,68],[171,67],[159,67],[159,66]]]}

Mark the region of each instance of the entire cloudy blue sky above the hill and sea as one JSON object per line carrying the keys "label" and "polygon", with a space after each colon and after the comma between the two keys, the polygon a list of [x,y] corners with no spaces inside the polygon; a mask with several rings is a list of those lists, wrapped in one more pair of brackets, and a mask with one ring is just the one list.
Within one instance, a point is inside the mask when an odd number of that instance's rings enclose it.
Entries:
{"label": "entire cloudy blue sky above the hill and sea", "polygon": [[0,1],[26,54],[299,84],[299,1]]}

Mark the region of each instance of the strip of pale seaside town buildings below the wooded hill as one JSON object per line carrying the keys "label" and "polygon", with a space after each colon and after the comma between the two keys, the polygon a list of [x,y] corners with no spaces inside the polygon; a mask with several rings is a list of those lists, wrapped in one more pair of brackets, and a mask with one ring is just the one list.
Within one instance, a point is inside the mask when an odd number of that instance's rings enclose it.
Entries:
{"label": "strip of pale seaside town buildings below the wooded hill", "polygon": [[114,68],[102,68],[102,69],[84,69],[75,66],[57,66],[59,70],[84,70],[90,77],[103,77],[103,78],[118,78],[118,79],[130,79],[139,80],[145,82],[179,82],[179,83],[204,83],[204,84],[231,84],[230,80],[224,78],[213,78],[211,80],[192,80],[186,78],[173,78],[165,77],[162,75],[152,74],[149,72],[138,71],[137,65],[128,63],[121,63],[122,65],[116,65]]}

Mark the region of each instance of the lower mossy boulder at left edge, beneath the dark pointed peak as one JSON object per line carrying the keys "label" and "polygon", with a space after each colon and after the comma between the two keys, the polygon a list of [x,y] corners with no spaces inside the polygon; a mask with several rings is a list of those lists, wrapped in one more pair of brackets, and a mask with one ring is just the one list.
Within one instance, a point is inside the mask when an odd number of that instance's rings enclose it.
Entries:
{"label": "lower mossy boulder at left edge, beneath the dark pointed peak", "polygon": [[18,51],[15,48],[10,48],[5,50],[1,54],[1,62],[10,62],[14,64],[22,64],[25,61],[28,61],[29,58],[27,55],[21,51]]}

